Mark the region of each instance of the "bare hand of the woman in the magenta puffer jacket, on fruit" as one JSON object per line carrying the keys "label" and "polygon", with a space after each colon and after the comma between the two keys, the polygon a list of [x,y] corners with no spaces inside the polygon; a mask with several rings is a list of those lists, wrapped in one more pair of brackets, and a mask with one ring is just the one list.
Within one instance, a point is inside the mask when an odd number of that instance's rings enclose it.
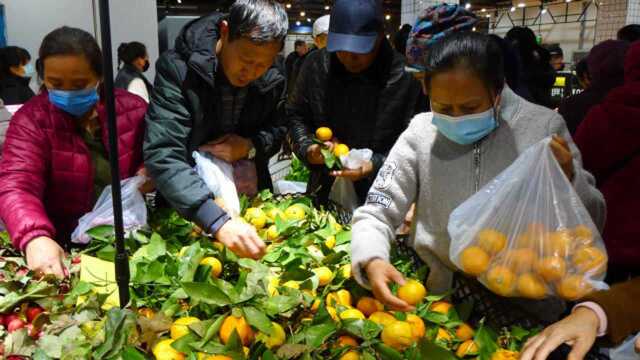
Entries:
{"label": "bare hand of the woman in the magenta puffer jacket, on fruit", "polygon": [[29,241],[25,248],[25,257],[27,266],[34,272],[53,274],[58,278],[68,275],[62,264],[64,250],[51,238],[41,236]]}

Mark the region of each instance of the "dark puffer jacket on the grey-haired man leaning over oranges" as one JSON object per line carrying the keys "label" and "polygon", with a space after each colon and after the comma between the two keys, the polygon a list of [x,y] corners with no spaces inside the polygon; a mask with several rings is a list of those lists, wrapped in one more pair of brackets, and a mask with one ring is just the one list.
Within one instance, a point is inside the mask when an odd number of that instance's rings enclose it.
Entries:
{"label": "dark puffer jacket on the grey-haired man leaning over oranges", "polygon": [[270,188],[269,158],[286,135],[286,79],[276,68],[249,85],[238,123],[220,120],[222,107],[214,95],[215,47],[223,19],[223,14],[213,13],[190,22],[176,39],[175,49],[158,60],[144,143],[145,166],[163,197],[213,232],[229,217],[211,201],[213,194],[193,170],[193,151],[229,133],[250,138],[257,151],[258,186]]}

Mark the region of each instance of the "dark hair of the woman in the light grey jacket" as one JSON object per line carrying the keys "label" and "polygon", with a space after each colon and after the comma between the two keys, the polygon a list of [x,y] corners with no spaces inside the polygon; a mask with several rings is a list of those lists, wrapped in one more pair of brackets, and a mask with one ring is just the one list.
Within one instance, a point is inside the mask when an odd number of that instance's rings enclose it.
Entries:
{"label": "dark hair of the woman in the light grey jacket", "polygon": [[502,48],[495,39],[476,32],[459,32],[437,41],[429,51],[427,76],[463,68],[482,80],[492,95],[505,83]]}

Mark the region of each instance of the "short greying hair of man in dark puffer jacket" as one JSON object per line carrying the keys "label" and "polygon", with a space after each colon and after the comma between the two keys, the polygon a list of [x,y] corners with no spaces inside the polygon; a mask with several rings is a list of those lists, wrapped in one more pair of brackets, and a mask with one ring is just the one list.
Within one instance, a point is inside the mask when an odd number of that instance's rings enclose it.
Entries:
{"label": "short greying hair of man in dark puffer jacket", "polygon": [[284,6],[275,0],[237,0],[229,9],[229,41],[283,42],[289,30]]}

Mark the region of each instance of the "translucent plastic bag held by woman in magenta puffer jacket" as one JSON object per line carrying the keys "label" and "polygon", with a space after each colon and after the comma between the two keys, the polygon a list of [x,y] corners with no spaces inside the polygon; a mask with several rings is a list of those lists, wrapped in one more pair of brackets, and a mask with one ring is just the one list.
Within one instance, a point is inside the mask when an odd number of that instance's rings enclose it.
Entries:
{"label": "translucent plastic bag held by woman in magenta puffer jacket", "polygon": [[[122,193],[122,223],[125,232],[137,230],[147,224],[147,205],[138,190],[147,181],[144,176],[134,176],[120,183]],[[78,220],[78,226],[71,234],[71,242],[88,244],[91,241],[87,231],[100,225],[113,225],[113,197],[111,185],[104,188],[90,213]]]}

